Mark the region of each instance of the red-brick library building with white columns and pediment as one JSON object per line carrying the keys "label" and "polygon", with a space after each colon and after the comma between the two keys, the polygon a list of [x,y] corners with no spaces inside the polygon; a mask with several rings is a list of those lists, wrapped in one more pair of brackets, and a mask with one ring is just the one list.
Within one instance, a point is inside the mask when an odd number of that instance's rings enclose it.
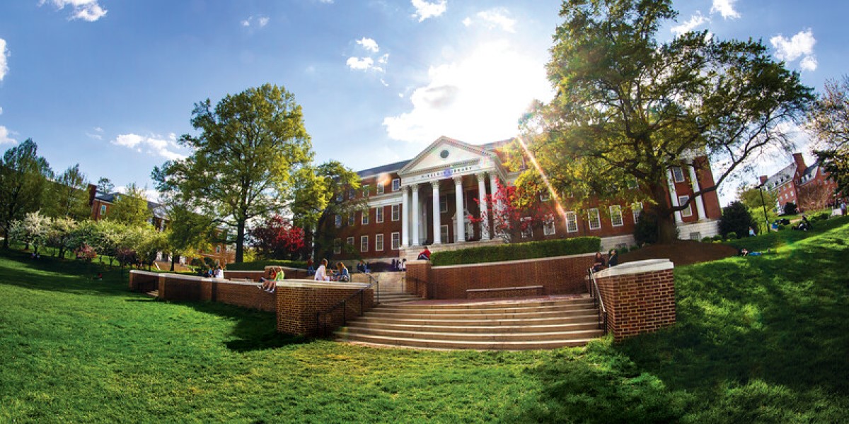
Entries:
{"label": "red-brick library building with white columns and pediment", "polygon": [[[491,223],[474,224],[468,216],[480,217],[492,205],[475,199],[497,190],[498,182],[513,184],[519,172],[502,165],[498,148],[512,140],[471,145],[440,137],[415,158],[381,165],[357,174],[362,187],[340,193],[346,199],[365,199],[367,208],[329,220],[335,232],[334,253],[340,259],[386,261],[411,258],[423,245],[431,250],[503,243],[490,231]],[[686,202],[700,187],[713,186],[706,157],[690,159],[694,167],[673,168],[668,183],[672,205]],[[578,213],[568,199],[557,207],[553,198],[541,198],[543,216],[539,228],[520,235],[519,242],[578,236],[602,237],[604,248],[632,245],[634,224],[643,204],[619,204]],[[458,214],[458,211],[460,213]],[[689,209],[675,214],[680,237],[700,239],[717,234],[722,216],[716,192],[696,198]],[[347,245],[347,248],[343,248]],[[353,254],[351,254],[353,251]]]}

